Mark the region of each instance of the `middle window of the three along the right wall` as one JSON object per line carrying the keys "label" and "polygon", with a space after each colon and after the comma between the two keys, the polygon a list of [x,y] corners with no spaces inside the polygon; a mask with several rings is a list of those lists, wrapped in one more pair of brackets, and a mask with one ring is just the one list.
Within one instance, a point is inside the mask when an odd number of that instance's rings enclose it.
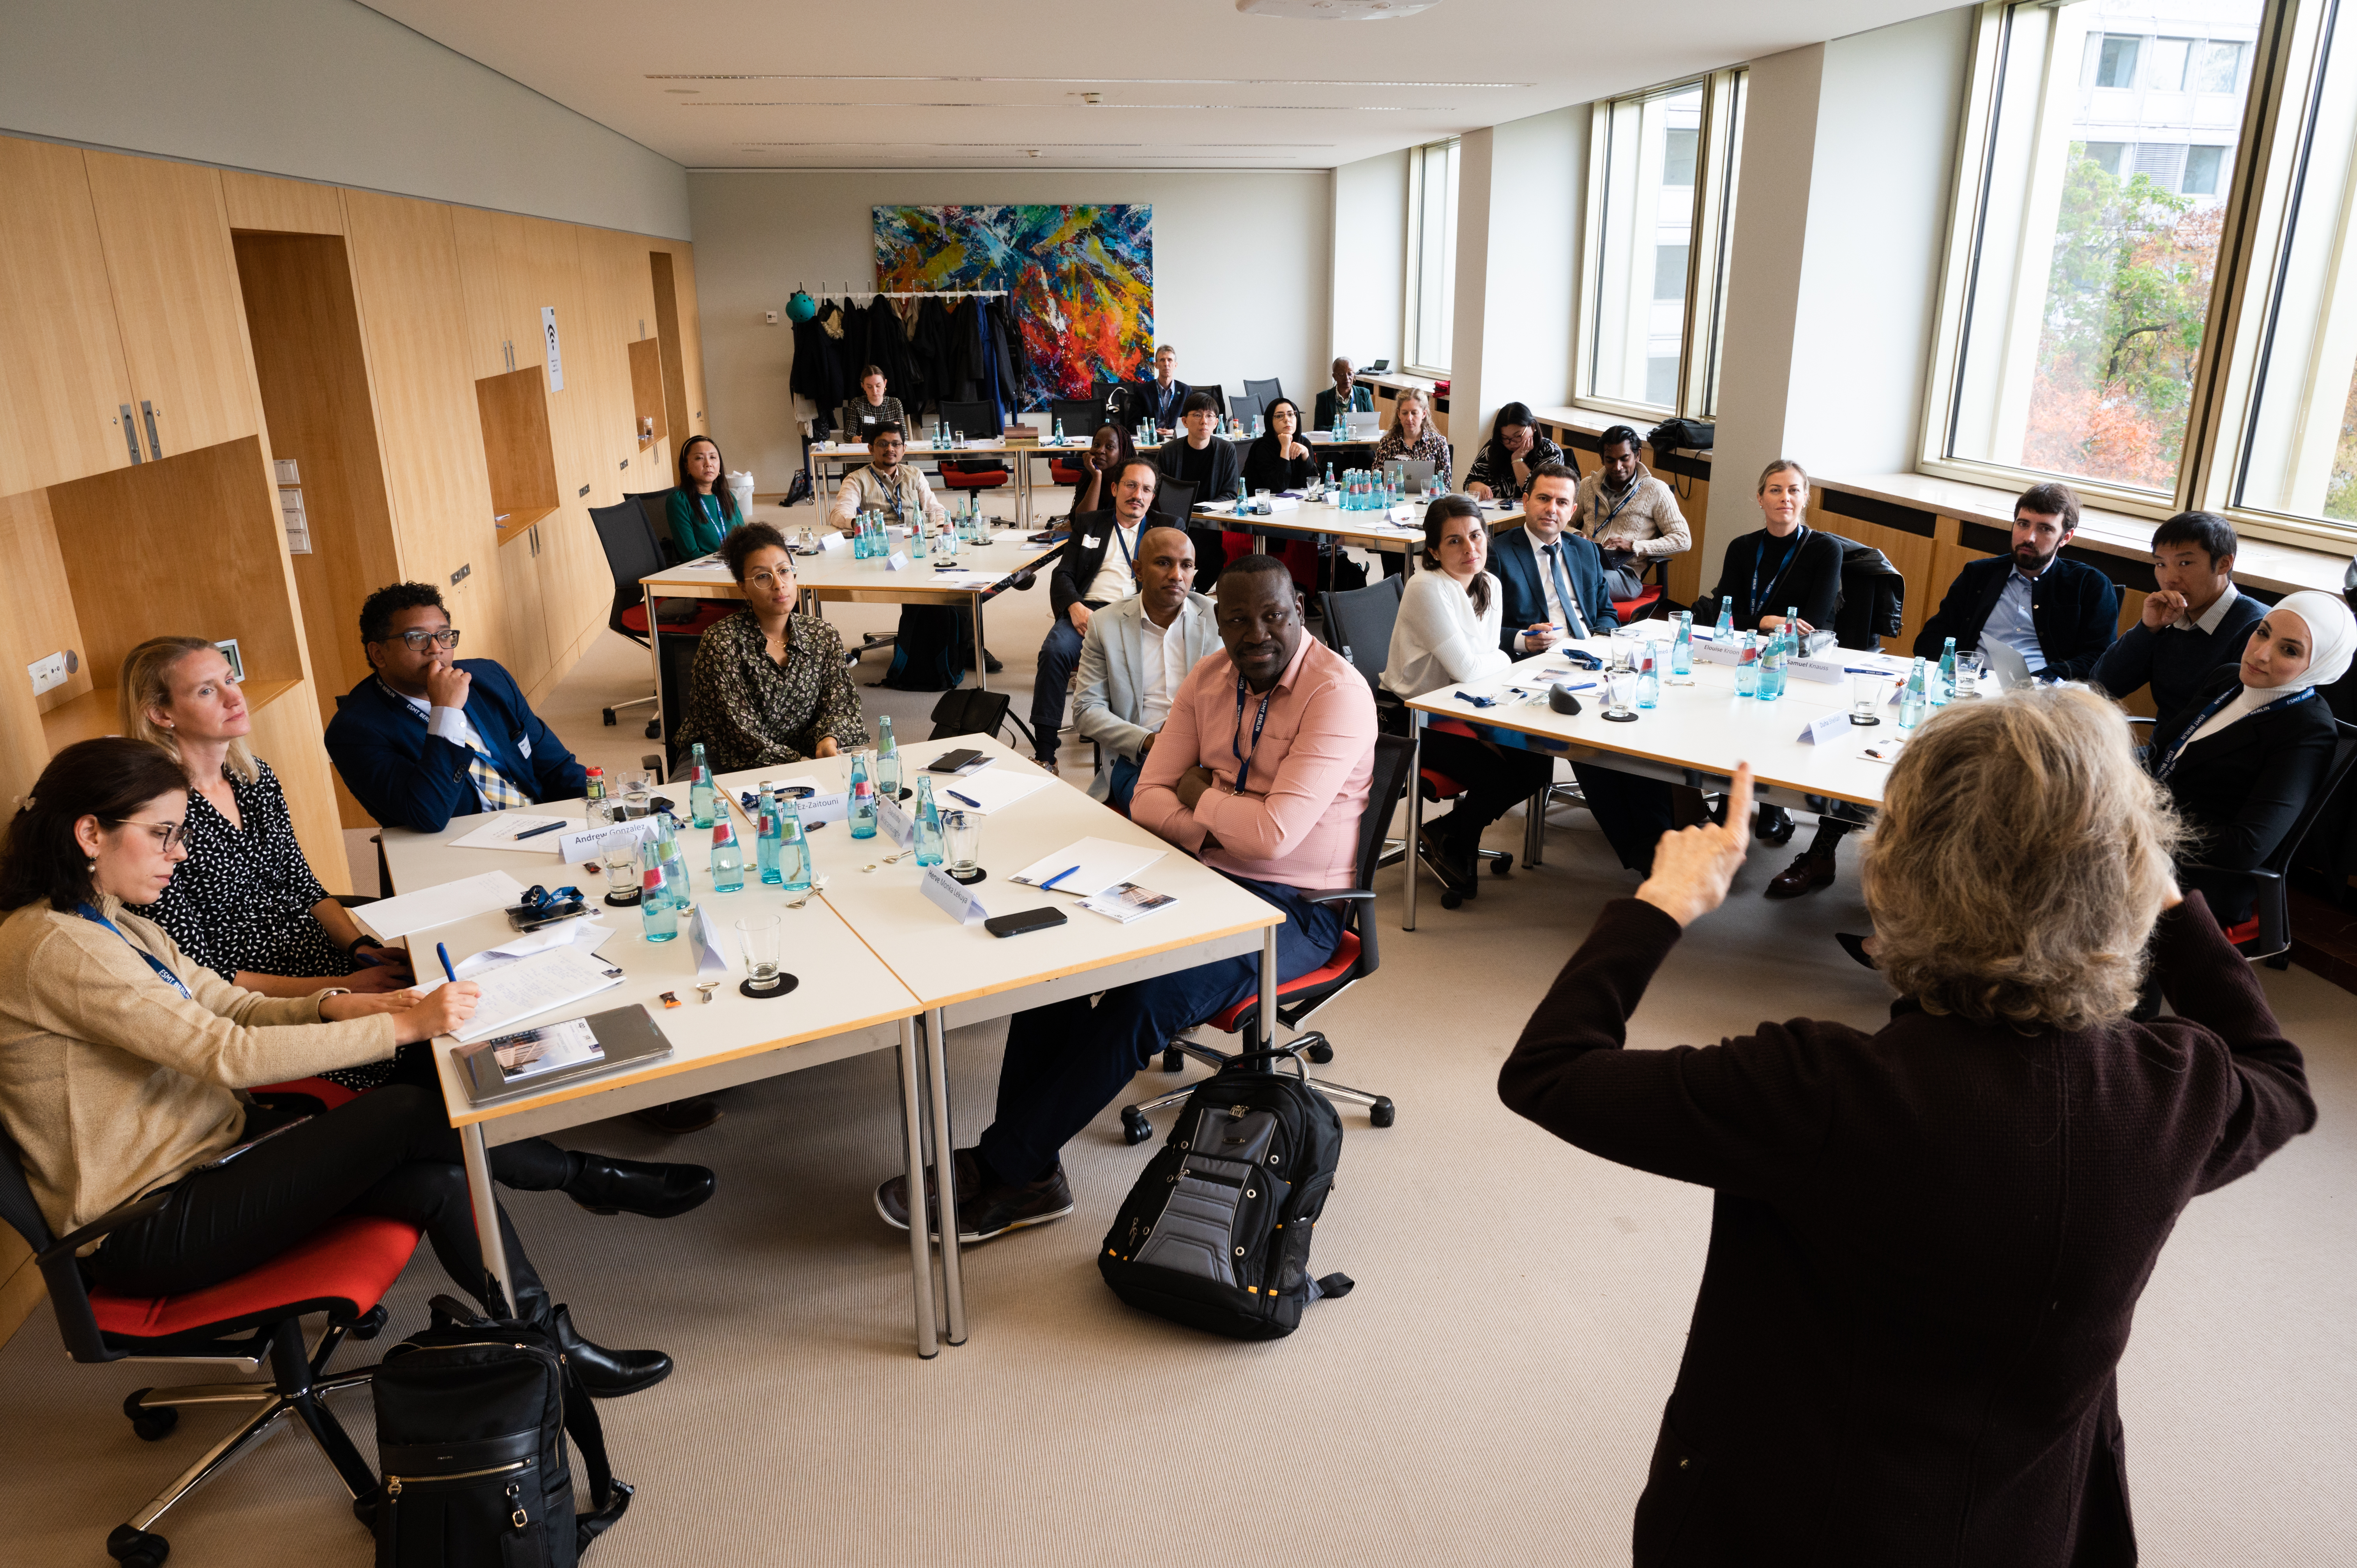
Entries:
{"label": "middle window of the three along the right wall", "polygon": [[1579,401],[1709,413],[1742,71],[1598,104],[1579,302]]}

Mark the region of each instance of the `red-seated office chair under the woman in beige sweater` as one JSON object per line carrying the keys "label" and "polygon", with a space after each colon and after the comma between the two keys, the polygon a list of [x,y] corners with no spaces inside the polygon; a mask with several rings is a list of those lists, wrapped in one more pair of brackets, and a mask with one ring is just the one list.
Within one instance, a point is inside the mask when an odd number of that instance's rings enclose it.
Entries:
{"label": "red-seated office chair under the woman in beige sweater", "polygon": [[[325,1375],[337,1346],[375,1339],[384,1327],[384,1292],[394,1287],[417,1250],[417,1226],[398,1219],[346,1214],[245,1273],[170,1297],[130,1297],[94,1290],[82,1280],[75,1252],[111,1231],[137,1224],[167,1203],[148,1193],[115,1207],[71,1236],[49,1236],[49,1221],[33,1203],[24,1174],[24,1151],[0,1132],[0,1219],[33,1247],[40,1278],[49,1285],[49,1311],[73,1361],[205,1361],[240,1372],[269,1363],[266,1382],[196,1384],[186,1389],[134,1389],[123,1415],[146,1443],[160,1443],[179,1424],[181,1405],[259,1405],[236,1431],[207,1448],[172,1485],[106,1535],[106,1554],[130,1568],[160,1568],[172,1542],[148,1526],[181,1497],[229,1469],[288,1415],[297,1417],[335,1467],[351,1511],[368,1521],[377,1504],[377,1471],[337,1424],[328,1394],[365,1389],[375,1368]],[[325,1313],[321,1337],[304,1349],[302,1318]]]}

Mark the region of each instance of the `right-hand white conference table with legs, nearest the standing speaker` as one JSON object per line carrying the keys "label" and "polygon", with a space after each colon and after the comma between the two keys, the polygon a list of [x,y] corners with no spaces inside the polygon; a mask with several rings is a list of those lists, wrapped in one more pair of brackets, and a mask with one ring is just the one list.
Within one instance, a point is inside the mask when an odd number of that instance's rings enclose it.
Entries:
{"label": "right-hand white conference table with legs, nearest the standing speaker", "polygon": [[[1697,658],[1690,686],[1669,684],[1669,641],[1673,627],[1666,620],[1640,620],[1624,627],[1619,639],[1589,637],[1565,641],[1546,653],[1516,660],[1501,674],[1478,681],[1452,681],[1407,703],[1414,722],[1414,766],[1424,766],[1424,731],[1435,719],[1457,719],[1485,733],[1499,745],[1520,745],[1551,752],[1570,762],[1600,762],[1626,773],[1662,778],[1666,783],[1692,783],[1699,778],[1732,778],[1739,762],[1751,764],[1756,797],[1763,804],[1801,804],[1805,797],[1841,799],[1855,806],[1876,806],[1883,799],[1883,783],[1897,755],[1897,710],[1883,700],[1874,726],[1855,726],[1850,714],[1850,677],[1815,681],[1798,674],[1787,679],[1784,696],[1775,703],[1735,696],[1735,665],[1711,663],[1706,627],[1695,627]],[[1629,651],[1636,641],[1650,641],[1659,655],[1662,698],[1657,707],[1640,707],[1629,722],[1607,719],[1605,670],[1579,670],[1563,658],[1563,648],[1586,648],[1615,663],[1615,644]],[[1876,670],[1888,677],[1883,698],[1897,693],[1907,677],[1904,658],[1862,648],[1829,648],[1815,667],[1822,670]],[[1549,689],[1560,681],[1589,686],[1577,691],[1582,710],[1558,714],[1549,703]],[[1497,698],[1483,707],[1466,698]],[[1813,736],[1813,738],[1803,738]],[[1871,747],[1871,752],[1869,752]],[[1874,755],[1881,752],[1881,755]],[[1530,837],[1537,844],[1544,832],[1544,811],[1532,809]],[[1407,842],[1421,842],[1424,795],[1407,792]],[[1407,856],[1407,910],[1402,929],[1417,929],[1417,854]],[[1534,854],[1525,854],[1537,863]]]}

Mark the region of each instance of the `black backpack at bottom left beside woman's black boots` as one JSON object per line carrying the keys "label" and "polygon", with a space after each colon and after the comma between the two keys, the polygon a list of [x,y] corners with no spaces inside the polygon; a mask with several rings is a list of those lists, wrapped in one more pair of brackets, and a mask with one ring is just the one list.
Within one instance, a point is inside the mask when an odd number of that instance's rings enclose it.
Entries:
{"label": "black backpack at bottom left beside woman's black boots", "polygon": [[[629,1507],[596,1405],[556,1337],[434,1297],[434,1327],[370,1379],[377,1401],[377,1568],[573,1568]],[[573,1514],[566,1434],[594,1514]]]}

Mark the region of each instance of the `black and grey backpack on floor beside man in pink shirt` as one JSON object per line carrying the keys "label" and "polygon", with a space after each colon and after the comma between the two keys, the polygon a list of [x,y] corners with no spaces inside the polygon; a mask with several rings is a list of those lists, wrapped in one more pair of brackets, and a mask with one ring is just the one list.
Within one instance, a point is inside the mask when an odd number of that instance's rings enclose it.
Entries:
{"label": "black and grey backpack on floor beside man in pink shirt", "polygon": [[1131,1306],[1230,1339],[1282,1339],[1303,1306],[1351,1292],[1346,1273],[1310,1278],[1341,1118],[1261,1061],[1242,1054],[1195,1085],[1096,1257]]}

